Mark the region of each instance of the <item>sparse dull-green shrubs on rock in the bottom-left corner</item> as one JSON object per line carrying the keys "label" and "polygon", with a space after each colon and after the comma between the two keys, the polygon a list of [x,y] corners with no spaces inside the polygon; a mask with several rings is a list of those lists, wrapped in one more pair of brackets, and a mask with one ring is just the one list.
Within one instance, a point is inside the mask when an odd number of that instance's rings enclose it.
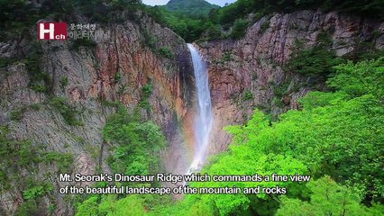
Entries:
{"label": "sparse dull-green shrubs on rock in the bottom-left corner", "polygon": [[[44,202],[42,197],[48,197],[51,203],[56,199],[52,177],[72,170],[71,154],[47,151],[44,145],[30,140],[12,139],[5,126],[0,127],[0,157],[0,194],[23,194],[23,204],[16,215],[41,214],[38,206]],[[50,172],[43,173],[48,167]]]}

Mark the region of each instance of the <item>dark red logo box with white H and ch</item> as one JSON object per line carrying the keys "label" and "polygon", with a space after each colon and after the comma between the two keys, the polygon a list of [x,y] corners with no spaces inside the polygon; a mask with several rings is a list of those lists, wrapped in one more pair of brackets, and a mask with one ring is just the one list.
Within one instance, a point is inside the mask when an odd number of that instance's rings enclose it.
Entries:
{"label": "dark red logo box with white H and ch", "polygon": [[67,23],[37,23],[39,40],[67,40]]}

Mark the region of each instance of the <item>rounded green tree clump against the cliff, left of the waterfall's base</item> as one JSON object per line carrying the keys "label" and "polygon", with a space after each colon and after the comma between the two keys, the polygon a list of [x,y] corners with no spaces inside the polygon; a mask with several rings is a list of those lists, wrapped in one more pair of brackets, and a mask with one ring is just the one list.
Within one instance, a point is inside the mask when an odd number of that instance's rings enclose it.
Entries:
{"label": "rounded green tree clump against the cliff, left of the waterfall's base", "polygon": [[114,144],[109,162],[115,173],[149,175],[160,171],[158,155],[166,142],[155,123],[137,121],[121,109],[105,124],[103,134]]}

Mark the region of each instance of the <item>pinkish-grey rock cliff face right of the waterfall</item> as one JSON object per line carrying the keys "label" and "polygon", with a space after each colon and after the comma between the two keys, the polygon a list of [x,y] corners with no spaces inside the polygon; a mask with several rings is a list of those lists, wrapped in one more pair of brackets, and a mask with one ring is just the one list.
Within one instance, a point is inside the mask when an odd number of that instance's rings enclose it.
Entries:
{"label": "pinkish-grey rock cliff face right of the waterfall", "polygon": [[384,47],[384,23],[335,12],[300,11],[274,14],[253,23],[242,40],[218,40],[198,44],[209,62],[209,79],[215,123],[211,153],[230,142],[223,129],[242,124],[255,108],[278,114],[297,109],[297,100],[308,91],[325,88],[325,76],[302,75],[288,69],[289,58],[315,46],[322,33],[332,39],[339,57],[349,55],[357,44]]}

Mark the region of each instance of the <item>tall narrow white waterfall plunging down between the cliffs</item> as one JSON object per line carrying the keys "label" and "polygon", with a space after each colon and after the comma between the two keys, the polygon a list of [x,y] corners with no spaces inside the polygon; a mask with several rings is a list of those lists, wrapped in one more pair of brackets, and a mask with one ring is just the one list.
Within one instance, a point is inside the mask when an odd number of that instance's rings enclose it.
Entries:
{"label": "tall narrow white waterfall plunging down between the cliffs", "polygon": [[195,118],[195,156],[187,170],[187,174],[190,174],[199,171],[205,163],[209,133],[213,124],[213,113],[206,62],[192,44],[187,44],[187,46],[193,61],[198,102],[197,115]]}

